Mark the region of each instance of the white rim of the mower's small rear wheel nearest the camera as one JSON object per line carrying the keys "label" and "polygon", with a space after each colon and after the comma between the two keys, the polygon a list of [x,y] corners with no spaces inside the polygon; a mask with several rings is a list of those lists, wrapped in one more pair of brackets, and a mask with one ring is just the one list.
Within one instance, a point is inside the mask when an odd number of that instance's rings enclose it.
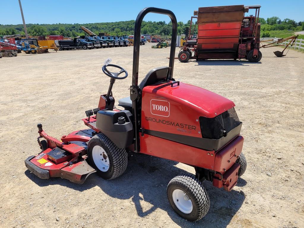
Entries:
{"label": "white rim of the mower's small rear wheel nearest the camera", "polygon": [[193,210],[193,205],[190,197],[181,189],[175,189],[172,192],[172,198],[175,206],[185,213],[190,214]]}

